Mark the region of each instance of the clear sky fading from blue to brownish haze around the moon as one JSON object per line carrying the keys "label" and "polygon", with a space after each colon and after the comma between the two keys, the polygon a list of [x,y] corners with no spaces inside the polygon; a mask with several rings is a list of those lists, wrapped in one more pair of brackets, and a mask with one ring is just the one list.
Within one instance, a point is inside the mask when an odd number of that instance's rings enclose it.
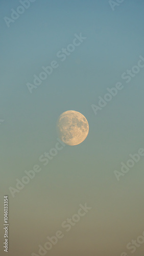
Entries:
{"label": "clear sky fading from blue to brownish haze around the moon", "polygon": [[[121,163],[144,148],[144,3],[124,0],[113,10],[109,2],[36,0],[6,22],[21,3],[0,1],[0,224],[3,230],[8,195],[10,256],[40,256],[39,245],[44,247],[47,236],[58,230],[63,238],[43,255],[143,255],[144,238],[133,245],[134,253],[127,248],[144,237],[143,156],[125,175]],[[65,48],[68,54],[60,57]],[[51,74],[36,86],[34,76],[51,65]],[[135,74],[127,82],[123,77],[130,70]],[[101,108],[99,97],[104,99],[117,83],[122,90]],[[55,148],[57,119],[68,110],[86,117],[89,134],[79,145],[61,144],[44,166],[39,158]],[[35,165],[41,170],[12,194],[16,179]],[[85,204],[90,209],[66,231],[62,223]],[[2,256],[3,243],[2,231]]]}

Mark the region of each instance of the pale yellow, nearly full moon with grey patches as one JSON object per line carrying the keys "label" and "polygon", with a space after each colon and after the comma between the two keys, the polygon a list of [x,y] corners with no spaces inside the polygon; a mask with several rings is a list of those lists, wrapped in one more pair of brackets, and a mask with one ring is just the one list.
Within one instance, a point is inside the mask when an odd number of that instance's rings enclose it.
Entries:
{"label": "pale yellow, nearly full moon with grey patches", "polygon": [[87,119],[77,111],[65,111],[57,120],[58,137],[67,145],[74,146],[82,143],[88,132]]}

